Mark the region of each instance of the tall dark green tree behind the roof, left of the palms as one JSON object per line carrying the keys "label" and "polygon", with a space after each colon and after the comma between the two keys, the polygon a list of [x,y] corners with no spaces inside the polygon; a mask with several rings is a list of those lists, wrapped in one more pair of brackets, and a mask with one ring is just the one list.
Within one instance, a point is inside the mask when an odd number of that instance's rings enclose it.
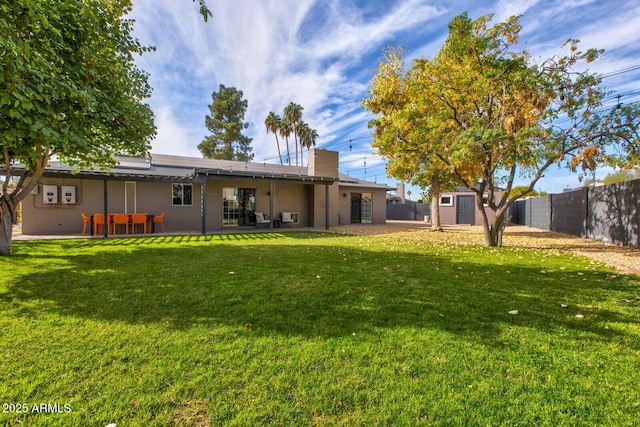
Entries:
{"label": "tall dark green tree behind the roof, left of the palms", "polygon": [[202,155],[209,159],[253,160],[252,139],[242,134],[249,127],[249,123],[244,122],[248,103],[242,99],[242,91],[221,84],[211,98],[211,115],[205,117],[205,125],[212,134],[198,145]]}

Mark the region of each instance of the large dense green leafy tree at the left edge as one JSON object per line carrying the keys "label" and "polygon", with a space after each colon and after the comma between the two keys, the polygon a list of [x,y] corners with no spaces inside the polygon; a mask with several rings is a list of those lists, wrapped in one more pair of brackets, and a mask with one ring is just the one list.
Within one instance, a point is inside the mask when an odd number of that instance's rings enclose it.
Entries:
{"label": "large dense green leafy tree at the left edge", "polygon": [[155,134],[127,0],[0,1],[0,255],[49,160],[109,166]]}

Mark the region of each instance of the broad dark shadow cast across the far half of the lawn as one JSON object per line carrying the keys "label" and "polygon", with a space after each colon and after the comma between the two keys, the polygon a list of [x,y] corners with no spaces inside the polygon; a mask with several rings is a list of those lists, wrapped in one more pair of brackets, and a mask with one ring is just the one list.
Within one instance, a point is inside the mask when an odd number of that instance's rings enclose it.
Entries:
{"label": "broad dark shadow cast across the far half of the lawn", "polygon": [[486,248],[460,254],[358,247],[354,236],[254,236],[39,242],[15,251],[12,260],[32,266],[10,276],[0,301],[28,317],[303,337],[432,328],[495,346],[512,327],[606,340],[624,334],[608,325],[640,323],[638,283],[585,273],[586,262],[547,260],[541,273],[522,251],[491,258]]}

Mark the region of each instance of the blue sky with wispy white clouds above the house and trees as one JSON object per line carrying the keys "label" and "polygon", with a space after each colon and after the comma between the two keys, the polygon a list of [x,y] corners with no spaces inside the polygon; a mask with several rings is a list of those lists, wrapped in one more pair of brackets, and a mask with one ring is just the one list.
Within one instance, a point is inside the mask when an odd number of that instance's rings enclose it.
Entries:
{"label": "blue sky with wispy white clouds above the house and trees", "polygon": [[[155,52],[137,60],[150,74],[149,100],[158,135],[152,152],[201,157],[197,145],[211,93],[220,84],[243,91],[248,102],[245,135],[255,161],[279,163],[275,138],[267,134],[269,111],[290,102],[318,131],[317,146],[340,152],[340,170],[388,183],[385,161],[371,148],[371,116],[360,103],[372,71],[389,44],[407,59],[433,58],[451,19],[493,13],[494,21],[522,15],[520,44],[533,58],[561,53],[568,38],[584,49],[605,49],[589,64],[607,76],[603,84],[640,100],[640,2],[637,0],[209,0],[204,23],[191,0],[133,0],[134,35]],[[635,92],[635,93],[634,93]],[[617,99],[612,97],[615,104]],[[293,149],[293,147],[291,147]],[[305,160],[306,164],[306,160]],[[604,177],[609,170],[597,171]],[[552,167],[537,185],[556,193],[581,185],[577,175]],[[420,189],[409,187],[413,199]]]}

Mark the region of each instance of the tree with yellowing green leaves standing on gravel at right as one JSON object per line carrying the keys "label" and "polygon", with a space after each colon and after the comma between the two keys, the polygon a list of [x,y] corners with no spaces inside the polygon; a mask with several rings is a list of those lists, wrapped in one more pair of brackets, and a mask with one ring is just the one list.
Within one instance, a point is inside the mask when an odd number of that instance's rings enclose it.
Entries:
{"label": "tree with yellowing green leaves standing on gravel at right", "polygon": [[[602,51],[568,40],[567,53],[537,63],[517,49],[520,29],[518,17],[493,26],[490,15],[455,17],[436,57],[404,75],[409,102],[378,118],[404,130],[397,152],[437,159],[477,194],[489,246],[502,244],[509,207],[552,165],[592,170],[638,153],[638,107],[603,108],[601,79],[583,71]],[[513,197],[517,177],[529,184]]]}

